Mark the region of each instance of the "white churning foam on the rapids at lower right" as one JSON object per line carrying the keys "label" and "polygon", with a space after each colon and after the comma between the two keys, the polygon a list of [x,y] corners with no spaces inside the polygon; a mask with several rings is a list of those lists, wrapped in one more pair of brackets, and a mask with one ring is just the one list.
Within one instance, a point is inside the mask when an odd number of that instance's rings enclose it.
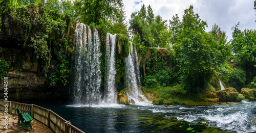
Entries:
{"label": "white churning foam on the rapids at lower right", "polygon": [[187,122],[207,120],[208,126],[237,132],[256,131],[255,125],[252,124],[253,119],[256,118],[252,113],[255,110],[255,105],[251,102],[243,101],[239,105],[220,105],[211,108],[204,111],[191,109],[186,115],[180,114],[176,119]]}

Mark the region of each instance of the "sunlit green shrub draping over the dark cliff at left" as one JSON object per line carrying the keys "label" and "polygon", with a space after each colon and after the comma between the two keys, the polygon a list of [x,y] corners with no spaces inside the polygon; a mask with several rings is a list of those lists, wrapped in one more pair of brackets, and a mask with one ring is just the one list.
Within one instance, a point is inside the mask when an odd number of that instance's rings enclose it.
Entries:
{"label": "sunlit green shrub draping over the dark cliff at left", "polygon": [[31,37],[32,43],[29,46],[35,49],[36,58],[48,61],[46,65],[48,64],[49,66],[51,61],[51,42],[61,41],[66,28],[66,21],[63,21],[63,16],[49,9],[41,9],[39,12],[42,15],[38,17],[38,24],[42,29],[34,37]]}

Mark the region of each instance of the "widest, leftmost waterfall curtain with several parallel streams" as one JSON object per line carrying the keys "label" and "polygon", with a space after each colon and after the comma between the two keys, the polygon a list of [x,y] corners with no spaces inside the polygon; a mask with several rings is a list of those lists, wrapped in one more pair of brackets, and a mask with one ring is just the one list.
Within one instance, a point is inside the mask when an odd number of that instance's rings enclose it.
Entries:
{"label": "widest, leftmost waterfall curtain with several parallel streams", "polygon": [[84,98],[90,99],[94,103],[101,100],[100,83],[100,43],[98,31],[92,32],[86,25],[76,24],[74,35],[75,55],[75,83],[73,89],[74,103],[82,103]]}

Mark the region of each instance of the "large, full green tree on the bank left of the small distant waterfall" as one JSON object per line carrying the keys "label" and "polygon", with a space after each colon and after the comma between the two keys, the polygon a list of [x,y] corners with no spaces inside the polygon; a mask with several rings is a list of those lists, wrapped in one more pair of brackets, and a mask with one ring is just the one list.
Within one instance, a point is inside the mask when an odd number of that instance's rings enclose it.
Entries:
{"label": "large, full green tree on the bank left of the small distant waterfall", "polygon": [[[177,25],[179,21],[177,17],[175,19],[174,25]],[[180,29],[176,32],[174,50],[183,88],[193,92],[204,88],[205,83],[219,79],[218,73],[226,59],[214,37],[204,31],[205,26],[206,21],[194,14],[193,6],[190,6],[184,11],[180,25],[175,27]]]}

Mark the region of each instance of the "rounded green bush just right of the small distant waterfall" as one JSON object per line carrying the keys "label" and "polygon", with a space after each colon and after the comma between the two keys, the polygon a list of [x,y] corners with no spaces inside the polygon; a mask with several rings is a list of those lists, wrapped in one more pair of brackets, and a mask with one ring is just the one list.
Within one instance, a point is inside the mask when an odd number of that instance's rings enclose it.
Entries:
{"label": "rounded green bush just right of the small distant waterfall", "polygon": [[245,85],[245,73],[242,69],[234,68],[229,76],[229,84],[237,89],[241,89]]}

